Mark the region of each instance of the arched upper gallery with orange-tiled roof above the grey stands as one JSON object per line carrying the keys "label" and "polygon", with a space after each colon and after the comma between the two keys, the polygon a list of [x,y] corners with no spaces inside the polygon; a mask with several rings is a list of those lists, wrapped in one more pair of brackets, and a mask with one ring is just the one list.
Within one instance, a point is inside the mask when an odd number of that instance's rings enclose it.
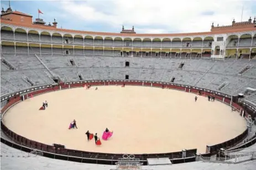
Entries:
{"label": "arched upper gallery with orange-tiled roof above the grey stands", "polygon": [[[242,40],[242,42],[241,42]],[[231,25],[214,26],[203,33],[137,34],[134,27],[120,33],[79,31],[58,28],[58,23],[46,24],[43,19],[13,11],[11,6],[1,12],[1,45],[58,47],[65,49],[92,48],[93,50],[210,52],[225,56],[228,49],[256,52],[256,20]],[[254,51],[253,51],[254,52]],[[231,52],[232,53],[232,52]]]}

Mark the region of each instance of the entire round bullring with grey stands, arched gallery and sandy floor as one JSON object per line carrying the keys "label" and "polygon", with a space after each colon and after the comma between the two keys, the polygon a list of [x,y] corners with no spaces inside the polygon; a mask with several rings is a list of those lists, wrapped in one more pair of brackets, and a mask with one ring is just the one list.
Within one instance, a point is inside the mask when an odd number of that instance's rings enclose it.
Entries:
{"label": "entire round bullring with grey stands, arched gallery and sandy floor", "polygon": [[255,17],[201,33],[105,33],[8,5],[2,169],[256,168]]}

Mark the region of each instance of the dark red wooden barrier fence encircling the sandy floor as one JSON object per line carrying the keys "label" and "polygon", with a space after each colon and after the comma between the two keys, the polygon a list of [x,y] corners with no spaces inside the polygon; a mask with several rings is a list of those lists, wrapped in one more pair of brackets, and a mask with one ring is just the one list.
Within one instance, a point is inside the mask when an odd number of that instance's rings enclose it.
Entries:
{"label": "dark red wooden barrier fence encircling the sandy floor", "polygon": [[[231,105],[232,107],[236,108],[237,110],[241,110],[242,108],[236,104],[231,102],[231,95],[220,93],[216,91],[211,91],[208,89],[202,89],[192,86],[185,86],[181,84],[174,84],[174,83],[164,83],[164,82],[147,82],[147,81],[80,81],[80,82],[67,82],[67,83],[60,83],[60,84],[50,84],[47,86],[37,87],[37,88],[30,88],[29,91],[23,91],[23,92],[15,92],[14,95],[9,94],[9,97],[4,97],[3,99],[8,99],[9,102],[2,108],[1,112],[4,114],[9,108],[11,108],[14,104],[20,102],[20,100],[25,100],[32,95],[39,95],[41,93],[46,92],[52,92],[52,91],[59,91],[61,89],[69,89],[69,88],[75,88],[75,87],[83,87],[85,84],[88,84],[90,86],[111,86],[111,85],[130,85],[130,86],[150,86],[150,87],[159,87],[159,88],[170,88],[170,89],[176,89],[179,91],[185,91],[185,92],[191,92],[198,94],[199,91],[201,91],[202,95],[212,95],[215,94],[215,98],[217,100],[220,100],[223,103],[226,103],[228,105]],[[2,98],[1,98],[2,100]],[[247,115],[245,115],[247,116]],[[13,131],[9,130],[2,122],[1,122],[1,128],[10,139],[12,139],[15,143],[19,144],[20,146],[26,146],[33,149],[37,149],[40,151],[45,151],[48,153],[55,153],[58,155],[66,155],[66,156],[75,156],[80,158],[93,158],[96,160],[103,159],[103,160],[115,160],[122,156],[118,154],[110,154],[110,153],[96,153],[96,152],[84,152],[84,151],[76,151],[76,150],[69,150],[66,148],[55,148],[54,146],[41,144],[40,142],[36,142],[33,140],[26,139],[23,136],[20,136],[18,134],[15,134]],[[243,132],[243,134],[235,137],[232,140],[223,142],[222,144],[207,146],[206,152],[211,153],[211,155],[215,154],[217,150],[220,148],[229,148],[231,146],[237,145],[239,142],[241,142],[246,136],[247,136],[247,130]],[[1,138],[2,141],[2,138]],[[11,144],[10,144],[11,145]],[[13,144],[12,144],[13,145]],[[186,157],[190,157],[191,160],[195,160],[195,154],[196,149],[194,150],[187,150],[186,151]],[[135,155],[136,157],[140,158],[140,160],[147,162],[147,158],[158,158],[158,157],[169,157],[171,160],[177,160],[178,162],[186,162],[189,160],[184,160],[186,158],[182,158],[182,151],[181,152],[172,152],[172,153],[159,153],[159,154],[143,154],[143,155]],[[61,156],[54,156],[61,157]],[[181,160],[179,160],[181,159]],[[89,161],[90,162],[90,161]],[[104,161],[103,161],[104,162]],[[113,162],[113,161],[111,161]],[[180,163],[181,163],[180,162]],[[109,164],[104,162],[104,164]]]}

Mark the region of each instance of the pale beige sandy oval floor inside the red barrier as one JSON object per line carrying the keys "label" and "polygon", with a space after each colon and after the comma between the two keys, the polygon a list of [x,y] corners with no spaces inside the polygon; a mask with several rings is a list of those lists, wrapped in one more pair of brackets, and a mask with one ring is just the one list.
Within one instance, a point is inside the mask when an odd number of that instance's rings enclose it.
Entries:
{"label": "pale beige sandy oval floor inside the red barrier", "polygon": [[[152,87],[100,86],[65,89],[35,96],[9,109],[3,122],[9,129],[44,144],[108,153],[161,153],[227,141],[241,134],[246,123],[221,102],[195,94]],[[47,100],[49,107],[38,110]],[[68,130],[76,119],[79,129]],[[96,146],[85,132],[108,127],[114,134]]]}

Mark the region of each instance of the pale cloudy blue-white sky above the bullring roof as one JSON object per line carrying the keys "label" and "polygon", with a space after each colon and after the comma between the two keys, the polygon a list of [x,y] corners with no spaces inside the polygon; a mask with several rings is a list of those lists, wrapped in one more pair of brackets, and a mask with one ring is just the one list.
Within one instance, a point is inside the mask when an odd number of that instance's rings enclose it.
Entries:
{"label": "pale cloudy blue-white sky above the bullring roof", "polygon": [[[1,8],[8,7],[1,1]],[[210,31],[211,24],[231,25],[256,16],[256,0],[116,0],[116,1],[11,1],[13,10],[65,29],[119,33],[195,33]],[[242,10],[243,9],[243,10]],[[243,11],[243,15],[242,15]]]}

